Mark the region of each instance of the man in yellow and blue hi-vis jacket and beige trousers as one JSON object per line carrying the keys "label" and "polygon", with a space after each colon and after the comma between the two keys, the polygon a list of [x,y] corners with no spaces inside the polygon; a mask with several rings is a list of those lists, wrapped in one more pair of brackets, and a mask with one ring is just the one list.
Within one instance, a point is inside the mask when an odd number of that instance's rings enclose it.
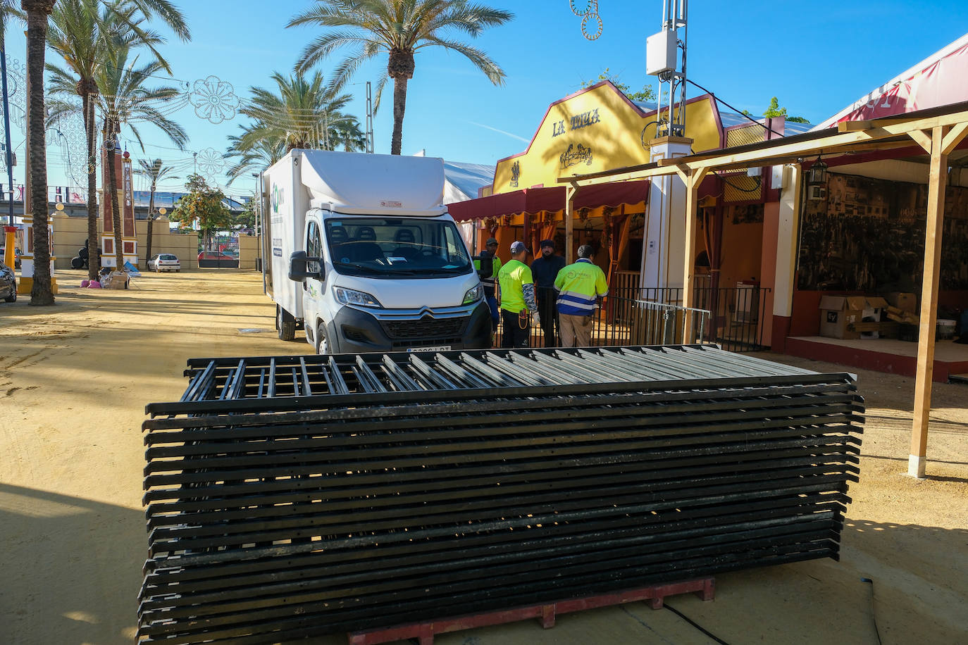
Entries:
{"label": "man in yellow and blue hi-vis jacket and beige trousers", "polygon": [[588,347],[591,344],[591,322],[595,303],[608,293],[605,274],[591,261],[591,247],[578,248],[578,261],[569,264],[555,279],[559,291],[558,315],[561,324],[561,345]]}

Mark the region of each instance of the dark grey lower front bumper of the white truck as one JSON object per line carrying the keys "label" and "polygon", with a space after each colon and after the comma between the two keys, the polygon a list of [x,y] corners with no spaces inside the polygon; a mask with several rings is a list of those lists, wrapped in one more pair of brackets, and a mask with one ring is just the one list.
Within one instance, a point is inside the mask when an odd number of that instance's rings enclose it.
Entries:
{"label": "dark grey lower front bumper of the white truck", "polygon": [[491,311],[480,301],[469,315],[388,320],[357,308],[341,308],[326,323],[326,341],[334,354],[400,352],[421,347],[486,349],[491,346]]}

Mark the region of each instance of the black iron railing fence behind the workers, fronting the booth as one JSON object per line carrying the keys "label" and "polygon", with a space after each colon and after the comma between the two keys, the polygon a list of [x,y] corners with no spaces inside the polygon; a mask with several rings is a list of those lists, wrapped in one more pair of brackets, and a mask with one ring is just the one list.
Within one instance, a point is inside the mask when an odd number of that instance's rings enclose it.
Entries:
{"label": "black iron railing fence behind the workers, fronting the booth", "polygon": [[[734,352],[764,348],[770,289],[754,285],[712,288],[697,285],[692,309],[682,308],[681,288],[626,288],[599,302],[590,316],[590,346],[719,343]],[[564,346],[554,289],[537,289],[541,325],[531,325],[530,347]],[[518,324],[517,321],[512,324]],[[494,346],[501,346],[503,321],[498,322]]]}

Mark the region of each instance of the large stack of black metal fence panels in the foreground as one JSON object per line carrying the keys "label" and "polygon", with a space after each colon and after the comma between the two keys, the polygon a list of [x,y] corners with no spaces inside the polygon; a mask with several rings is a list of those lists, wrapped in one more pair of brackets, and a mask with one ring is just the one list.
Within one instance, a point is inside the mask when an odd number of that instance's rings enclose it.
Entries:
{"label": "large stack of black metal fence panels in the foreground", "polygon": [[190,362],[144,642],[273,642],[837,557],[862,399],[708,345]]}

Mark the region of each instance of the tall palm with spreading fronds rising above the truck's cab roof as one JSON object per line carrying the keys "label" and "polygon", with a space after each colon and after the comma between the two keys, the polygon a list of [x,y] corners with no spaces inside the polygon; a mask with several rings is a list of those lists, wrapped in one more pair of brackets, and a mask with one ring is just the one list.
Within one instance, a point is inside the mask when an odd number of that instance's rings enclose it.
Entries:
{"label": "tall palm with spreading fronds rising above the truck's cab roof", "polygon": [[393,138],[390,153],[399,155],[403,146],[404,111],[407,107],[407,81],[413,77],[413,55],[417,49],[440,46],[466,56],[495,85],[504,72],[480,49],[442,35],[447,30],[478,36],[487,27],[513,18],[509,12],[467,0],[318,0],[316,6],[296,15],[287,26],[317,24],[332,29],[303,49],[296,72],[305,72],[341,47],[351,53],[336,68],[330,87],[344,87],[359,66],[385,51],[386,73],[377,81],[375,107],[386,84],[393,78]]}

